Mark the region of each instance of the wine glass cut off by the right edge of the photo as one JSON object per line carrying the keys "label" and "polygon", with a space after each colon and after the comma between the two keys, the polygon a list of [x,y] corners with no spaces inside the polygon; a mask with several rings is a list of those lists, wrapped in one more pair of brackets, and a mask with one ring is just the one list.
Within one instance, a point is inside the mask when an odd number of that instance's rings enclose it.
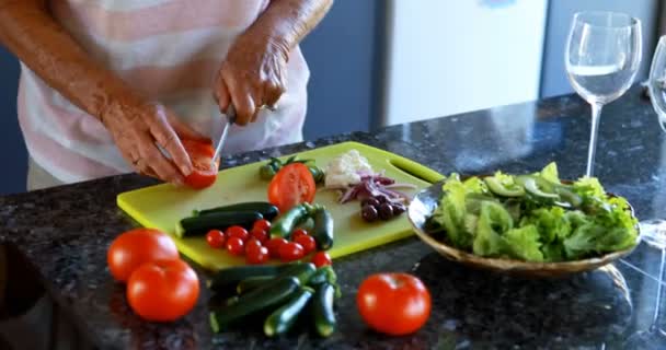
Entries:
{"label": "wine glass cut off by the right edge of the photo", "polygon": [[[666,131],[666,36],[659,38],[655,49],[647,79],[650,100],[657,114],[659,126]],[[641,330],[628,339],[636,349],[662,349],[666,343],[666,330],[661,328],[662,287],[664,283],[664,262],[666,260],[666,220],[655,219],[641,221],[641,240],[648,246],[662,252],[657,295],[647,330]]]}

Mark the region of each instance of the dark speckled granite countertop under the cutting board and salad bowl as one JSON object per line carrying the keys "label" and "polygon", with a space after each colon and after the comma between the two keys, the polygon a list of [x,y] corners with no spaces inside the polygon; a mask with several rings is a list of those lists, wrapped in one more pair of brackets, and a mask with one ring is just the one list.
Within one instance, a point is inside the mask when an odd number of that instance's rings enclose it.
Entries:
{"label": "dark speckled granite countertop under the cutting board and salad bowl", "polygon": [[[222,164],[354,140],[443,174],[536,171],[556,161],[561,176],[572,178],[585,172],[588,133],[589,107],[576,96],[562,96],[252,152]],[[666,215],[665,141],[638,88],[605,108],[596,175],[609,191],[627,197],[641,219]],[[412,237],[335,261],[345,296],[337,308],[338,331],[328,339],[309,332],[267,339],[261,327],[214,336],[205,289],[185,318],[150,324],[128,308],[123,287],[106,269],[105,253],[115,235],[136,225],[116,208],[116,195],[152,183],[125,175],[0,197],[0,241],[25,253],[64,310],[102,348],[624,349],[631,348],[622,343],[627,337],[652,323],[661,255],[643,244],[608,269],[530,280],[466,269]],[[379,271],[411,271],[429,288],[433,313],[418,332],[390,338],[360,320],[357,287]]]}

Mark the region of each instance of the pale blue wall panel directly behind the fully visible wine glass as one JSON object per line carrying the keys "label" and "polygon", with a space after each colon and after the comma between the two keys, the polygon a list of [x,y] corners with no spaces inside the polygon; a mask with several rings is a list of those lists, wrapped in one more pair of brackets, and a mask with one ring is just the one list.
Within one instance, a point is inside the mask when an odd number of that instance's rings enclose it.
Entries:
{"label": "pale blue wall panel directly behind the fully visible wine glass", "polygon": [[655,27],[659,0],[554,0],[550,2],[546,38],[541,95],[543,97],[572,93],[564,68],[564,48],[575,12],[607,10],[627,12],[641,19],[643,24],[643,62],[636,82],[647,77],[656,44]]}

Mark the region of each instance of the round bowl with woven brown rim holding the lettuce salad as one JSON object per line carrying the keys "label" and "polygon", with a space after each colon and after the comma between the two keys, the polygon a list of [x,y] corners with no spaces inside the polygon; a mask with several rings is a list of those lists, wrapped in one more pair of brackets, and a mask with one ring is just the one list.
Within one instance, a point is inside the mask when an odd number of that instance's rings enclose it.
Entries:
{"label": "round bowl with woven brown rim holding the lettuce salad", "polygon": [[[412,228],[416,232],[416,235],[423,242],[433,247],[444,257],[469,267],[519,276],[561,277],[594,270],[620,259],[633,252],[640,241],[639,234],[636,235],[636,244],[630,248],[609,253],[599,257],[573,261],[532,262],[508,258],[481,257],[439,242],[427,232],[426,222],[433,215],[433,212],[439,203],[439,198],[444,192],[441,189],[443,184],[444,182],[436,183],[416,194],[407,208],[407,218],[412,224]],[[612,195],[609,194],[609,196]],[[633,209],[631,209],[631,214],[633,217]],[[639,230],[639,228],[636,228],[636,230]]]}

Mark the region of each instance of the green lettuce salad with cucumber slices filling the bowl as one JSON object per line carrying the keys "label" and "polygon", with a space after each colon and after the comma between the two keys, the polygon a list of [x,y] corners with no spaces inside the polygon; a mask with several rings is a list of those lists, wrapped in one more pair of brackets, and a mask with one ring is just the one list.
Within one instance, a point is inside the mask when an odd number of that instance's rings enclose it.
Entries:
{"label": "green lettuce salad with cucumber slices filling the bowl", "polygon": [[636,219],[597,178],[562,184],[554,163],[541,172],[461,180],[451,174],[428,220],[444,241],[483,257],[567,261],[636,244]]}

